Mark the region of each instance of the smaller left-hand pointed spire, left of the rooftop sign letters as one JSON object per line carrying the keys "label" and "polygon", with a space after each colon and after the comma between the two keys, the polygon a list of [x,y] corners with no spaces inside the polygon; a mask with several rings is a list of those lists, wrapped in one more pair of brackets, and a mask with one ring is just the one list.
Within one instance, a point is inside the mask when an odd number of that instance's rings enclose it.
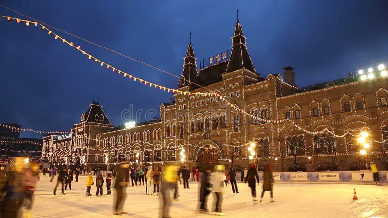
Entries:
{"label": "smaller left-hand pointed spire, left of the rooftop sign letters", "polygon": [[179,79],[178,88],[190,85],[198,74],[197,59],[194,56],[193,45],[191,44],[191,33],[189,46],[187,47],[186,57],[183,60],[183,72]]}

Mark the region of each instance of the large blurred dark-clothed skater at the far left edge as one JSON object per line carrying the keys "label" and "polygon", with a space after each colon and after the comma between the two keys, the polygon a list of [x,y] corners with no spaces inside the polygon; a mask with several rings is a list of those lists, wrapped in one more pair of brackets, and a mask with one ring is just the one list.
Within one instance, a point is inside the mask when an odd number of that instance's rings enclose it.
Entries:
{"label": "large blurred dark-clothed skater at the far left edge", "polygon": [[24,157],[16,157],[9,165],[4,197],[1,208],[1,218],[17,218],[25,195]]}

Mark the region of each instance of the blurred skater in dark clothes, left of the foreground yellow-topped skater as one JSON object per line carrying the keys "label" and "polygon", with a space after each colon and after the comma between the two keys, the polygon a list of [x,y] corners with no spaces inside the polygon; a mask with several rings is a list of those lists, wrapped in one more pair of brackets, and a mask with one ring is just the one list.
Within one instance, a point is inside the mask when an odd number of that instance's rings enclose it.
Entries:
{"label": "blurred skater in dark clothes, left of the foreground yellow-topped skater", "polygon": [[125,169],[129,168],[129,163],[122,163],[116,174],[116,182],[114,183],[114,189],[116,190],[116,201],[114,202],[114,212],[115,215],[127,214],[123,211],[123,204],[125,201]]}

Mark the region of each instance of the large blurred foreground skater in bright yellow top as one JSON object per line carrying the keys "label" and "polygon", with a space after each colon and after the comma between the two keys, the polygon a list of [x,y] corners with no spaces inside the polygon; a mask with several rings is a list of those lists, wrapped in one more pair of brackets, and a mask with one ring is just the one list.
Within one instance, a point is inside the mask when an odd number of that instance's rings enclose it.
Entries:
{"label": "large blurred foreground skater in bright yellow top", "polygon": [[178,181],[177,166],[174,164],[168,165],[165,168],[161,187],[161,217],[170,218],[169,209],[171,205],[170,190],[175,190]]}

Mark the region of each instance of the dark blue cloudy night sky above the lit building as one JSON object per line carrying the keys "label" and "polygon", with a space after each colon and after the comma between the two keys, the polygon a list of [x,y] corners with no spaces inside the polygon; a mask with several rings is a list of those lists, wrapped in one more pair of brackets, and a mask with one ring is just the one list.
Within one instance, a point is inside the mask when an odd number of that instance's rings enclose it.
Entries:
{"label": "dark blue cloudy night sky above the lit building", "polygon": [[[236,8],[261,76],[292,66],[297,85],[305,86],[376,68],[379,63],[388,65],[387,0],[151,2],[2,0],[0,4],[177,76],[190,31],[198,65],[231,48]],[[25,18],[2,7],[0,14]],[[158,111],[161,102],[172,97],[113,74],[33,25],[1,19],[0,30],[0,123],[68,131],[94,99],[111,122],[120,125],[121,112],[130,104],[134,110]],[[56,33],[128,73],[177,87],[178,78]],[[145,119],[143,113],[139,120]]]}

